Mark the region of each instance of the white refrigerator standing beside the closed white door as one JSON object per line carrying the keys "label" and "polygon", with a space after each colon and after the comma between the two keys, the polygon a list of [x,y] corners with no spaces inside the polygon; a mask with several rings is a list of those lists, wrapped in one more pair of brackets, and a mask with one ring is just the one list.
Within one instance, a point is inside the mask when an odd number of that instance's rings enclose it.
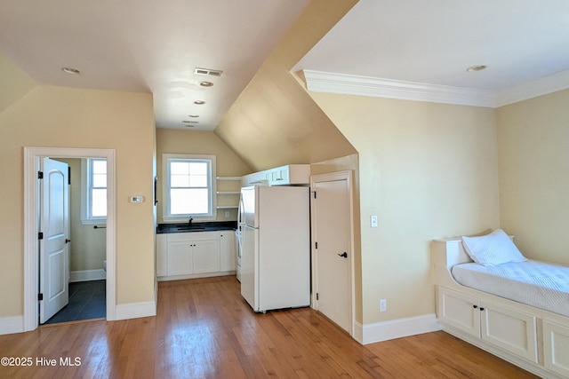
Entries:
{"label": "white refrigerator standing beside the closed white door", "polygon": [[241,295],[254,312],[309,306],[309,187],[244,187],[239,209]]}

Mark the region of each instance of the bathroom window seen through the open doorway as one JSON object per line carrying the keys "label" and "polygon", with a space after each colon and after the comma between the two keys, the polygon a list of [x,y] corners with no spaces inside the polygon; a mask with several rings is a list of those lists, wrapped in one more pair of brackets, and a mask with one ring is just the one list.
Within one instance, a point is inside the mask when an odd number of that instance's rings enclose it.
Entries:
{"label": "bathroom window seen through the open doorway", "polygon": [[107,160],[86,158],[81,163],[81,221],[86,225],[107,222]]}

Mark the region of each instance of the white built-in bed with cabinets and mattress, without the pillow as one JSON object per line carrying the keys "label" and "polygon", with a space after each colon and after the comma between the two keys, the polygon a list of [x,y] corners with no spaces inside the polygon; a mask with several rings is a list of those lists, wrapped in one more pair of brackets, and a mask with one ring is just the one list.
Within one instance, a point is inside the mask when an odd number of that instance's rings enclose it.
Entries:
{"label": "white built-in bed with cabinets and mattress, without the pillow", "polygon": [[541,377],[569,377],[569,268],[529,260],[478,265],[461,238],[433,241],[431,252],[446,332]]}

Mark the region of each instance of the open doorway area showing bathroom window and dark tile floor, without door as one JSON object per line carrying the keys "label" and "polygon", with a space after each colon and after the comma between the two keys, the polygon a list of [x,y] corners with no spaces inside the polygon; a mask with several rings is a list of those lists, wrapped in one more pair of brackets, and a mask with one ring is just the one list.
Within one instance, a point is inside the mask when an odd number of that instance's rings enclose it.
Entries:
{"label": "open doorway area showing bathroom window and dark tile floor, without door", "polygon": [[[68,280],[66,280],[68,302],[60,306],[54,314],[44,314],[40,302],[39,322],[55,324],[103,319],[107,314],[105,290],[107,162],[91,157],[57,158],[53,161],[67,164],[69,173]],[[40,186],[47,186],[45,177],[44,175],[44,181],[40,182]],[[42,229],[45,229],[43,224],[41,223]],[[43,272],[41,262],[40,260],[40,282]],[[47,296],[44,294],[43,297],[45,302]]]}

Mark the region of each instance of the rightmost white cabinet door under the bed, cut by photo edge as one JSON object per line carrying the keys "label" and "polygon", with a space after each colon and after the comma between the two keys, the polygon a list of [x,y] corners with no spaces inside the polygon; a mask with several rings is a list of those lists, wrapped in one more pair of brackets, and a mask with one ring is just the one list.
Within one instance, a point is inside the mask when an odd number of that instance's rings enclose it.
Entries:
{"label": "rightmost white cabinet door under the bed, cut by photo edge", "polygon": [[543,361],[548,370],[569,377],[569,327],[543,320]]}

